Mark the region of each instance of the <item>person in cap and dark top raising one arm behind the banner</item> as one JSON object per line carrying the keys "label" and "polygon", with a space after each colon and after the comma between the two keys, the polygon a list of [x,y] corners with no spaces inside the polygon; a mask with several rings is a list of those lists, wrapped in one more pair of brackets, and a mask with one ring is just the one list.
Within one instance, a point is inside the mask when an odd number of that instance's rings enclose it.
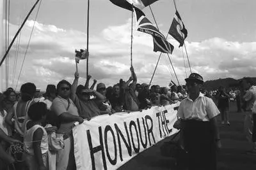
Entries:
{"label": "person in cap and dark top raising one arm behind the banner", "polygon": [[[71,99],[76,104],[79,115],[88,119],[100,115],[100,109],[97,103],[104,101],[105,97],[95,90],[86,89],[86,87],[81,87],[77,90],[78,80],[79,73],[76,72],[71,87]],[[96,96],[96,99],[90,99],[90,96]]]}

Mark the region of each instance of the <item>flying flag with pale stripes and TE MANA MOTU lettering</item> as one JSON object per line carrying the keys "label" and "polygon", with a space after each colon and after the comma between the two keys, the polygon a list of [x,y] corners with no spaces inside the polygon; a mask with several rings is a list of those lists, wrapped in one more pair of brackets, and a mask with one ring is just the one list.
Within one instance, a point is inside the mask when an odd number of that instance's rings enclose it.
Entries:
{"label": "flying flag with pale stripes and TE MANA MOTU lettering", "polygon": [[145,17],[145,14],[138,8],[134,8],[138,25],[138,31],[152,35],[154,40],[154,52],[172,53],[173,45],[166,41],[166,38],[159,30]]}

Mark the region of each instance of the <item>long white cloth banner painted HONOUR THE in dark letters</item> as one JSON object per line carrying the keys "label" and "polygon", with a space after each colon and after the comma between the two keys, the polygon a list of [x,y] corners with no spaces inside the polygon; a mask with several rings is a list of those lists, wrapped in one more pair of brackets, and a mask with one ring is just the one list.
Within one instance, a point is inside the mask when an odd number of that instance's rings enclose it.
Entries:
{"label": "long white cloth banner painted HONOUR THE in dark letters", "polygon": [[100,115],[73,128],[77,170],[117,169],[177,129],[179,103],[132,113]]}

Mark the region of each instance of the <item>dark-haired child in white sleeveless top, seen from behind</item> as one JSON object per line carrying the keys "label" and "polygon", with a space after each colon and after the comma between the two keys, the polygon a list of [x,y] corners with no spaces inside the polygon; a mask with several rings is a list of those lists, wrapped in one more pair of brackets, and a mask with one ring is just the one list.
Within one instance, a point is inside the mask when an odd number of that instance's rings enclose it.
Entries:
{"label": "dark-haired child in white sleeveless top, seen from behind", "polygon": [[24,134],[25,159],[29,170],[45,170],[47,166],[48,138],[42,124],[45,123],[47,105],[35,103],[29,107],[30,120],[26,123]]}

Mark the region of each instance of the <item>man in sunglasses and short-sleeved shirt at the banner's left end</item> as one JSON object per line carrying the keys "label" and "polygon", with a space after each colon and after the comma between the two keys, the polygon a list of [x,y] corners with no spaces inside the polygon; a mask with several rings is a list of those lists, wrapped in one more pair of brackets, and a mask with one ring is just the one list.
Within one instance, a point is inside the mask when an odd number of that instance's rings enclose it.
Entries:
{"label": "man in sunglasses and short-sleeved shirt at the banner's left end", "polygon": [[72,127],[75,122],[83,123],[79,117],[76,105],[70,99],[71,84],[67,80],[61,80],[57,85],[58,96],[52,101],[51,111],[58,116],[60,128],[56,131],[63,134],[65,147],[56,153],[56,169],[76,169],[74,158],[74,138]]}

